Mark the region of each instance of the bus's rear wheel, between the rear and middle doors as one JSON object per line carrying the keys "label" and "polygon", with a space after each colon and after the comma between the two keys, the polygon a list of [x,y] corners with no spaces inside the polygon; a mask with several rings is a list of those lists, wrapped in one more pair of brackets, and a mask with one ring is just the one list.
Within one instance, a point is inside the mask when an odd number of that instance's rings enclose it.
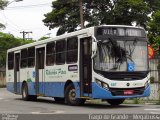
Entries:
{"label": "bus's rear wheel, between the rear and middle doors", "polygon": [[35,101],[35,100],[37,100],[36,95],[29,95],[28,94],[28,86],[27,86],[26,83],[24,83],[22,85],[22,99],[25,100],[25,101],[29,101],[29,100]]}

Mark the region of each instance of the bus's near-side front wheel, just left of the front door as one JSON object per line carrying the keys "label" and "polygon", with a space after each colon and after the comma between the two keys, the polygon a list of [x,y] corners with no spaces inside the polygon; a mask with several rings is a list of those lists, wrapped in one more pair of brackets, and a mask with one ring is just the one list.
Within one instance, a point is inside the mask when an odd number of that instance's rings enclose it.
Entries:
{"label": "bus's near-side front wheel, just left of the front door", "polygon": [[65,89],[65,102],[69,105],[82,105],[85,99],[76,98],[76,91],[73,84],[69,84]]}

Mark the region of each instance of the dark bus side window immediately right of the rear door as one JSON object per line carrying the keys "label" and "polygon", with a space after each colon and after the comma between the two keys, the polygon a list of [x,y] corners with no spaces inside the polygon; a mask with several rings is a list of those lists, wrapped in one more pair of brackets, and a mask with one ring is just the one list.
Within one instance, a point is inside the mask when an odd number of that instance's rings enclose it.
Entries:
{"label": "dark bus side window immediately right of the rear door", "polygon": [[28,57],[27,49],[21,50],[21,68],[27,67],[27,60],[28,60],[27,57]]}

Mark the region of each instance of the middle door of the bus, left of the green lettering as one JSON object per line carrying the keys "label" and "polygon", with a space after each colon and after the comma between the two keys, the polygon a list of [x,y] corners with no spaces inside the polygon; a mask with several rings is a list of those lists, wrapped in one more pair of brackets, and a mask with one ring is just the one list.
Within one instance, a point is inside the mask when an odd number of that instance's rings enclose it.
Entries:
{"label": "middle door of the bus, left of the green lettering", "polygon": [[45,47],[36,49],[36,94],[44,94]]}

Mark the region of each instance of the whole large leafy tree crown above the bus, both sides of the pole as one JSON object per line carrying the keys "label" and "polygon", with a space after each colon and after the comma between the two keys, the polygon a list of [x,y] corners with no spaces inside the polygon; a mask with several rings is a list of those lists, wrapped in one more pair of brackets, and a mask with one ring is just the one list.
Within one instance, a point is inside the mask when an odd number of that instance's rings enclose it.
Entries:
{"label": "whole large leafy tree crown above the bus, both sides of the pole", "polygon": [[[147,0],[83,0],[85,27],[103,24],[123,24],[146,27],[151,13]],[[153,3],[152,3],[153,4]],[[57,35],[76,31],[80,26],[78,0],[52,2],[52,11],[45,14],[44,24],[49,29],[59,28]]]}

